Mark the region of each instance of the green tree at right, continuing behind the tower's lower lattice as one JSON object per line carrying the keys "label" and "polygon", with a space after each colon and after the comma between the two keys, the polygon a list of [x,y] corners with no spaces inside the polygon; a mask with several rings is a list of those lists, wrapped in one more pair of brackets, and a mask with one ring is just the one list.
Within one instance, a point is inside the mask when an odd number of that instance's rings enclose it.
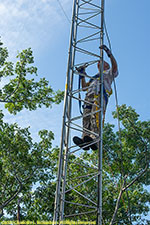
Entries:
{"label": "green tree at right, continuing behind the tower's lower lattice", "polygon": [[[117,118],[117,113],[113,113]],[[114,126],[105,124],[103,142],[103,223],[105,225],[149,224],[143,219],[149,215],[150,193],[146,187],[150,185],[150,121],[141,122],[139,115],[131,107],[119,107],[119,119],[122,123],[120,132],[115,132]],[[79,159],[69,159],[67,189],[75,189],[97,202],[97,152],[84,152]],[[90,162],[90,163],[87,163]],[[96,220],[96,212],[83,205],[94,204],[75,191],[66,194],[68,204],[66,214],[83,213],[75,217],[80,220]],[[70,202],[82,204],[73,205]]]}

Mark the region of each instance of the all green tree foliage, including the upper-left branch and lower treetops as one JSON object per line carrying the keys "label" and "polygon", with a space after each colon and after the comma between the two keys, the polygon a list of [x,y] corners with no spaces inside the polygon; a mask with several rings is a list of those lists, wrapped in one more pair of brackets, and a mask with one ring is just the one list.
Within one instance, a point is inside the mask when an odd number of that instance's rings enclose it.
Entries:
{"label": "all green tree foliage, including the upper-left branch and lower treetops", "polygon": [[[11,79],[0,90],[0,101],[12,114],[22,109],[51,107],[63,99],[63,92],[54,92],[45,78],[37,81],[37,68],[33,66],[31,49],[18,54],[14,65],[7,62],[8,51],[0,43],[0,79]],[[27,78],[28,77],[28,78]],[[132,107],[122,105],[118,109],[121,126],[119,132],[114,126],[105,124],[103,133],[103,223],[109,225],[115,212],[118,196],[122,190],[116,212],[116,225],[150,224],[142,219],[150,212],[150,121],[139,120]],[[117,118],[117,113],[113,113]],[[3,121],[0,111],[0,216],[16,220],[18,201],[22,220],[50,220],[53,217],[54,195],[59,149],[52,148],[54,134],[39,132],[40,141],[33,142],[29,128]],[[67,168],[67,188],[76,190],[93,202],[97,199],[97,152],[83,152],[81,158],[71,156]],[[88,163],[90,162],[90,164]],[[124,179],[123,179],[124,178]],[[89,179],[87,183],[85,180]],[[83,182],[81,186],[79,183]],[[88,199],[73,191],[66,193],[66,214],[87,212],[81,205],[91,205]],[[94,205],[93,205],[93,208]],[[7,216],[1,220],[8,219]],[[84,214],[80,220],[96,220],[96,213]]]}

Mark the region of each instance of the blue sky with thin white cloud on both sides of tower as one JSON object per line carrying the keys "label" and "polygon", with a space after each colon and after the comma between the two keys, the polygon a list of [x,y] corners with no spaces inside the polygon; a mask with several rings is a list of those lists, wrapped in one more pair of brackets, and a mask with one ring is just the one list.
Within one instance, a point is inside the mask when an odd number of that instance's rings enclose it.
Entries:
{"label": "blue sky with thin white cloud on both sides of tower", "polygon": [[[71,0],[59,0],[71,21]],[[150,119],[150,1],[106,0],[105,20],[112,51],[117,59],[116,79],[119,104],[131,105],[141,120]],[[1,39],[15,61],[17,50],[31,47],[40,77],[50,85],[64,90],[70,38],[70,23],[57,0],[0,1]],[[107,42],[106,42],[107,43]],[[5,120],[31,127],[34,139],[40,129],[55,133],[54,145],[60,143],[63,104],[36,112],[24,110],[17,117],[6,112]],[[114,96],[107,108],[106,122],[115,123]],[[38,121],[38,123],[37,123]]]}

